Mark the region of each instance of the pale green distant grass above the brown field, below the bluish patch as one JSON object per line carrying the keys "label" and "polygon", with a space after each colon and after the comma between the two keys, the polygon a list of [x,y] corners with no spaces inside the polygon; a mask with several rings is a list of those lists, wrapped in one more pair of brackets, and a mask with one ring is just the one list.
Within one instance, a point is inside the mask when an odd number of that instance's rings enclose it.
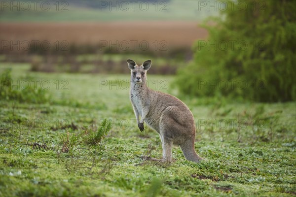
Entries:
{"label": "pale green distant grass above the brown field, below the bluish patch", "polygon": [[[3,10],[0,12],[1,22],[74,22],[74,21],[139,21],[139,20],[189,20],[189,21],[201,21],[208,16],[217,15],[217,12],[208,11],[207,8],[203,7],[198,10],[198,1],[193,0],[172,0],[165,4],[162,1],[158,2],[157,7],[155,4],[149,4],[146,8],[146,4],[143,4],[140,8],[140,1],[134,5],[130,1],[129,9],[126,9],[126,5],[118,5],[116,7],[109,7],[100,10],[99,8],[87,8],[76,4],[71,1],[66,1],[69,5],[63,3],[59,4],[57,8],[56,1],[50,3],[50,8],[47,8],[47,4],[41,9],[41,3],[36,4],[36,11],[34,10],[34,4],[31,3],[31,9],[27,8],[27,1],[25,4],[19,3],[19,6],[10,7],[11,2],[8,2],[8,7],[3,6]],[[22,1],[20,1],[22,2]],[[50,1],[47,1],[50,2]],[[115,1],[114,1],[115,2]],[[114,4],[113,2],[113,4]],[[120,1],[117,1],[120,2]],[[18,5],[14,2],[13,5]],[[64,9],[63,9],[64,8]],[[28,9],[28,11],[26,11]],[[48,9],[48,11],[45,11]],[[142,10],[146,11],[142,11]],[[11,11],[12,10],[12,11]],[[57,11],[58,10],[58,11]],[[62,11],[63,10],[63,11]],[[155,11],[156,10],[156,11]]]}

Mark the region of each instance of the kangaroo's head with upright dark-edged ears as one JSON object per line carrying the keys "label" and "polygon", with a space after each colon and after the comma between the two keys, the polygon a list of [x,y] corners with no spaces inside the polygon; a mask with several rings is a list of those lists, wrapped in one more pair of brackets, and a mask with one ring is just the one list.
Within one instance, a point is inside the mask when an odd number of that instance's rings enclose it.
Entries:
{"label": "kangaroo's head with upright dark-edged ears", "polygon": [[131,82],[139,83],[146,82],[146,72],[151,66],[151,60],[145,61],[141,66],[138,66],[135,61],[128,59],[128,67],[131,69]]}

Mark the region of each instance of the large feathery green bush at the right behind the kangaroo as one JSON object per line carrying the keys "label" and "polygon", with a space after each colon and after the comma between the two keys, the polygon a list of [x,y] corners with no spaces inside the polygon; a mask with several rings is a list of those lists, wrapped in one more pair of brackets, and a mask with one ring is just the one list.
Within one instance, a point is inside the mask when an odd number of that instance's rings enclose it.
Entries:
{"label": "large feathery green bush at the right behind the kangaroo", "polygon": [[296,100],[295,1],[228,1],[221,14],[212,18],[214,25],[203,24],[209,40],[196,41],[194,61],[178,71],[181,92]]}

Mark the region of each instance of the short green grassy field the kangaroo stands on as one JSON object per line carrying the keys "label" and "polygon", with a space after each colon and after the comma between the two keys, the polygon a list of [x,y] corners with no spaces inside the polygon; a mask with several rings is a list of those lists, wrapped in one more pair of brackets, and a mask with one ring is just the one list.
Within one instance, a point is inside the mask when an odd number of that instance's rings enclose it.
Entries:
{"label": "short green grassy field the kangaroo stands on", "polygon": [[[48,80],[51,97],[37,104],[1,99],[0,196],[296,195],[294,102],[187,98],[171,87],[173,76],[148,75],[150,87],[159,90],[165,80],[161,91],[191,109],[195,149],[205,160],[188,162],[175,147],[173,164],[145,163],[142,155],[161,157],[161,144],[146,125],[143,133],[132,125],[123,86],[128,75],[38,73],[8,63],[1,63],[0,73],[7,67],[14,83],[35,79],[40,87]],[[100,80],[108,85],[100,87]],[[98,145],[87,143],[84,136],[99,131],[105,118],[111,130]],[[62,151],[65,144],[68,151]]]}

